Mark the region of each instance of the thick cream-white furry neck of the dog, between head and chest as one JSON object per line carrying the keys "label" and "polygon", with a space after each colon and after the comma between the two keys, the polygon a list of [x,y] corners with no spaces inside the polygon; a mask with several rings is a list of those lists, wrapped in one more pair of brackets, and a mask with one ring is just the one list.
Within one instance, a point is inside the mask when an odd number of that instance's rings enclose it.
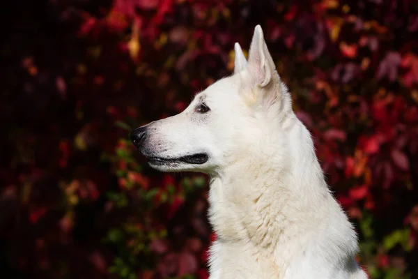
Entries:
{"label": "thick cream-white furry neck of the dog, between head and chest", "polygon": [[327,188],[309,132],[299,120],[292,121],[276,142],[242,152],[242,158],[212,176],[210,223],[222,241],[274,251],[295,235],[314,231],[330,212],[343,216]]}

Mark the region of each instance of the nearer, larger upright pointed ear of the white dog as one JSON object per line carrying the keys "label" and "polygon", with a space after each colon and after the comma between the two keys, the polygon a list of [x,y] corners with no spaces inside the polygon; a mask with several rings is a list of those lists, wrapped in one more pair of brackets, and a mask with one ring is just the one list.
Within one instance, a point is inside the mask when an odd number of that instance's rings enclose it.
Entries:
{"label": "nearer, larger upright pointed ear of the white dog", "polygon": [[265,45],[263,30],[260,25],[256,26],[254,36],[249,48],[248,70],[254,85],[264,87],[269,84],[276,66],[267,45]]}

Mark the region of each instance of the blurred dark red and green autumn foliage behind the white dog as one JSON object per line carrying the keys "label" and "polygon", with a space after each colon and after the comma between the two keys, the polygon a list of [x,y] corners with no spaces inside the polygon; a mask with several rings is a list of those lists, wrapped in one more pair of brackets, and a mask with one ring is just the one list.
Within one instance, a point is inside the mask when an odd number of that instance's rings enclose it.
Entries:
{"label": "blurred dark red and green autumn foliage behind the white dog", "polygon": [[371,278],[418,278],[415,1],[9,5],[1,278],[207,278],[206,176],[153,171],[127,135],[231,74],[256,24],[356,225],[359,262]]}

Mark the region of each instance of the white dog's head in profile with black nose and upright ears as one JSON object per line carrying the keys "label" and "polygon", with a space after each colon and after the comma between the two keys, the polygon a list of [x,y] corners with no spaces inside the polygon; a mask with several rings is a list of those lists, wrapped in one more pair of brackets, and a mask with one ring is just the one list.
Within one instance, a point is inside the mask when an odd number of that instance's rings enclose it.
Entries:
{"label": "white dog's head in profile with black nose and upright ears", "polygon": [[[263,31],[254,31],[249,59],[235,43],[234,74],[197,94],[180,114],[133,130],[131,139],[161,171],[220,172],[274,144],[271,126],[291,111]],[[275,129],[277,130],[277,128]]]}

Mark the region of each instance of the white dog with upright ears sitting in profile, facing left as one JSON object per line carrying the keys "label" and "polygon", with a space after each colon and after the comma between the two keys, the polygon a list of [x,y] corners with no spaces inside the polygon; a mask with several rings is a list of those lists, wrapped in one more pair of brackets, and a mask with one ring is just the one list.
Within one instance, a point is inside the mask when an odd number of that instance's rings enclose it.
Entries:
{"label": "white dog with upright ears sitting in profile, facing left", "polygon": [[366,278],[260,26],[248,61],[235,44],[233,75],[131,138],[155,169],[210,174],[211,279]]}

